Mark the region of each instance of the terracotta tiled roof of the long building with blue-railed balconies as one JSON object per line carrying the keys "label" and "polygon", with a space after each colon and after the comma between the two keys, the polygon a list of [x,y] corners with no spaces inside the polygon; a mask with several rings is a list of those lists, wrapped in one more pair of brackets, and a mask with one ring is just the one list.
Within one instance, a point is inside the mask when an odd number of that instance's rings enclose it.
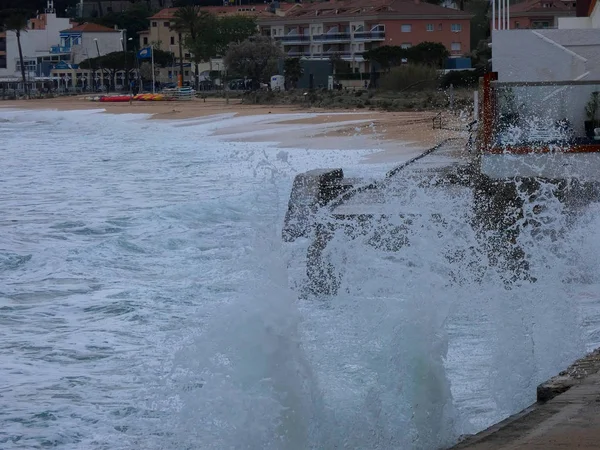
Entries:
{"label": "terracotta tiled roof of the long building with blue-railed balconies", "polygon": [[314,20],[315,17],[357,17],[357,16],[436,16],[470,17],[471,14],[452,8],[415,0],[331,0],[323,3],[303,3],[302,8],[292,9],[277,20]]}

